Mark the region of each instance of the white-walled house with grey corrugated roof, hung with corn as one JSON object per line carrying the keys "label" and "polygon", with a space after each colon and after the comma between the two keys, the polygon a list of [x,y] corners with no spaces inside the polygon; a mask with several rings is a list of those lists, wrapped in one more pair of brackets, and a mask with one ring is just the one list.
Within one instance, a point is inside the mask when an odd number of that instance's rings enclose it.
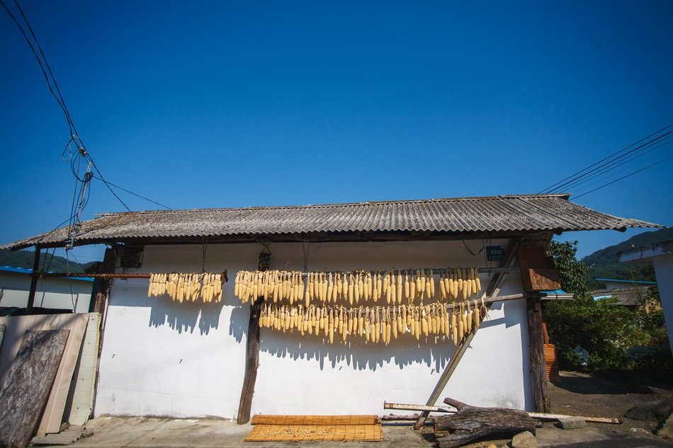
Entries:
{"label": "white-walled house with grey corrugated roof, hung with corn", "polygon": [[[301,272],[475,266],[482,293],[531,291],[528,299],[494,302],[439,396],[475,406],[538,408],[544,357],[531,352],[531,343],[542,352],[536,291],[558,288],[541,287],[555,284],[544,257],[553,234],[657,226],[567,199],[513,195],[123,212],[82,222],[78,245],[113,246],[105,264],[117,268],[106,272],[226,270],[229,277],[220,303],[148,297],[147,279],[111,281],[106,304],[101,301],[96,415],[235,418],[244,384],[254,391],[252,413],[382,414],[384,401],[425,403],[459,358],[446,338],[417,340],[407,333],[389,345],[354,337],[330,345],[322,336],[261,328],[253,354],[259,360],[251,363],[255,381],[247,370],[247,344],[259,321],[249,303],[234,297],[234,278],[256,270],[262,252],[271,253],[272,270]],[[4,247],[39,252],[68,242],[67,229],[60,229]]]}

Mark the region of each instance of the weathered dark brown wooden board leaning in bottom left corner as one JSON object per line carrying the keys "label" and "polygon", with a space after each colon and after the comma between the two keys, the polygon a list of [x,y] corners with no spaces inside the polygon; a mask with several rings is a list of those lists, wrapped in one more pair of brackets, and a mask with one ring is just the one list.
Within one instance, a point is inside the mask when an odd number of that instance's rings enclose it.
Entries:
{"label": "weathered dark brown wooden board leaning in bottom left corner", "polygon": [[0,446],[25,448],[54,383],[68,330],[27,331],[0,389]]}

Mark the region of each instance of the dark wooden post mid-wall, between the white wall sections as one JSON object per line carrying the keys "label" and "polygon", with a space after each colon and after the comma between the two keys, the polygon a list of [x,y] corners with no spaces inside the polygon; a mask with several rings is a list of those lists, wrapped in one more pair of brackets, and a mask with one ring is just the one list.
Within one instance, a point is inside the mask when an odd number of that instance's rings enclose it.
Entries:
{"label": "dark wooden post mid-wall, between the white wall sections", "polygon": [[[263,256],[264,255],[264,256]],[[271,253],[263,252],[259,255],[259,270],[268,270],[271,263]],[[244,425],[250,421],[252,408],[252,396],[255,393],[255,381],[257,380],[257,367],[259,366],[259,314],[264,297],[256,297],[250,304],[250,321],[248,323],[248,335],[245,349],[245,376],[241,389],[241,400],[238,405],[236,423]]]}

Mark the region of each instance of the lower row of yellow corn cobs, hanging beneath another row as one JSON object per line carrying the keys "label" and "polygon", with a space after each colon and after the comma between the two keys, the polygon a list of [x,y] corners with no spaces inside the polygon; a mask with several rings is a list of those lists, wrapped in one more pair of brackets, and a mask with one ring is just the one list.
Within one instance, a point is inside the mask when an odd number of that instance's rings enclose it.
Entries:
{"label": "lower row of yellow corn cobs, hanging beneath another row", "polygon": [[259,326],[283,333],[322,336],[334,343],[363,338],[367,343],[383,342],[409,333],[412,337],[439,337],[454,344],[476,330],[486,314],[483,299],[455,304],[399,306],[304,306],[302,304],[261,305]]}

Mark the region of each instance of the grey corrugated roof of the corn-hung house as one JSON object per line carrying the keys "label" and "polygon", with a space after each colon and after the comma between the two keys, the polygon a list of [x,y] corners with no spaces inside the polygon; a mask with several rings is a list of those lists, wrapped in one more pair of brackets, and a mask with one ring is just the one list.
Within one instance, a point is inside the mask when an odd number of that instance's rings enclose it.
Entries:
{"label": "grey corrugated roof of the corn-hung house", "polygon": [[[510,195],[352,204],[192,209],[101,214],[81,223],[78,243],[155,242],[196,238],[305,237],[310,234],[526,234],[660,227],[624,219],[567,201],[568,195]],[[287,241],[289,238],[285,238]],[[363,236],[363,239],[367,239]],[[67,228],[1,248],[63,246]]]}

